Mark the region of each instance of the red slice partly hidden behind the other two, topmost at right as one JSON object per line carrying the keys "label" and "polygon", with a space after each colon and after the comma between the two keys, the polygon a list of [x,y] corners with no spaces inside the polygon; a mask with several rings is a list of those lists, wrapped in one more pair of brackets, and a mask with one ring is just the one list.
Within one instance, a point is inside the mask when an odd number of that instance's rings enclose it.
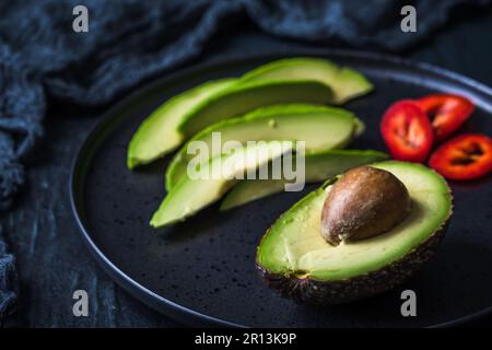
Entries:
{"label": "red slice partly hidden behind the other two, topmost at right", "polygon": [[433,94],[417,100],[429,116],[437,142],[455,132],[473,113],[470,100],[452,94]]}

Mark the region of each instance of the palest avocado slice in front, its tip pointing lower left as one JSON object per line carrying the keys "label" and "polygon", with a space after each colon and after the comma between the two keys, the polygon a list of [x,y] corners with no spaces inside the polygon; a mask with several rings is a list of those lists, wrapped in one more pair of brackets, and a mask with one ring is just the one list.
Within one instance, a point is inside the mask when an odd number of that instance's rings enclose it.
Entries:
{"label": "palest avocado slice in front, its tip pointing lower left", "polygon": [[[208,174],[214,176],[183,177],[153,214],[151,226],[161,228],[184,221],[219,200],[238,180],[238,176],[291,152],[294,147],[295,142],[292,141],[260,141],[211,159]],[[199,168],[203,167],[201,165]]]}

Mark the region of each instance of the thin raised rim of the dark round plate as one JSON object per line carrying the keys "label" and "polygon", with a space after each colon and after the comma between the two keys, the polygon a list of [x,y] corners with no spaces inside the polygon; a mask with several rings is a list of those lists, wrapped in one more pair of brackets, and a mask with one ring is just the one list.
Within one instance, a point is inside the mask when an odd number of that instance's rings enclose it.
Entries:
{"label": "thin raised rim of the dark round plate", "polygon": [[[144,303],[152,310],[159,312],[160,314],[169,317],[174,320],[181,323],[183,325],[189,326],[214,326],[214,327],[236,327],[236,328],[247,328],[245,325],[237,323],[224,320],[218,317],[207,315],[194,311],[189,307],[183,306],[175,303],[168,299],[165,299],[144,285],[140,284],[131,277],[126,275],[120,270],[105,254],[99,249],[99,247],[92,240],[89,230],[84,224],[83,209],[80,205],[80,199],[78,199],[78,191],[80,187],[83,187],[83,179],[79,179],[80,173],[83,170],[83,163],[90,149],[92,148],[92,139],[95,138],[107,125],[110,125],[114,120],[118,119],[118,110],[122,107],[130,105],[139,100],[140,96],[147,95],[149,92],[155,90],[159,85],[163,84],[164,81],[172,82],[178,77],[190,75],[203,71],[204,69],[210,69],[212,67],[221,67],[224,65],[247,62],[250,60],[266,60],[266,59],[279,59],[295,56],[308,56],[308,57],[349,57],[352,59],[370,59],[373,61],[386,61],[393,65],[401,65],[406,68],[421,70],[424,73],[437,74],[441,78],[446,78],[455,83],[465,85],[467,89],[472,90],[481,98],[485,101],[487,104],[492,106],[492,89],[488,85],[476,81],[475,79],[468,78],[460,73],[454,72],[448,69],[444,69],[432,63],[410,60],[401,58],[395,55],[367,51],[367,50],[354,50],[354,49],[321,49],[321,48],[300,48],[293,50],[274,50],[261,54],[248,54],[248,55],[225,55],[220,58],[212,58],[196,63],[195,60],[186,68],[178,68],[173,72],[157,73],[153,78],[143,79],[143,82],[137,84],[133,91],[122,94],[120,100],[114,103],[106,112],[102,114],[99,120],[95,121],[93,127],[87,131],[84,141],[79,147],[75,158],[71,164],[70,170],[70,180],[69,180],[69,197],[70,197],[70,208],[72,214],[75,219],[79,232],[87,245],[91,255],[96,259],[97,264],[103,268],[103,270],[109,275],[109,277],[129,294],[136,298],[138,301]],[[81,184],[79,184],[81,182]],[[461,316],[456,319],[438,323],[435,325],[427,326],[429,328],[441,328],[441,327],[452,327],[457,325],[462,325],[472,319],[478,319],[485,315],[492,314],[492,305],[482,308],[479,312]]]}

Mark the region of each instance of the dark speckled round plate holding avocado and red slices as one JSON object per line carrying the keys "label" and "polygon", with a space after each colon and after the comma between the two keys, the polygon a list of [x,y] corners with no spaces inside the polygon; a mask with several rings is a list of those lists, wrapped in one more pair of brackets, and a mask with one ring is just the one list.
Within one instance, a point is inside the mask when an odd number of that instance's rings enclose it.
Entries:
{"label": "dark speckled round plate holding avocado and red slices", "polygon": [[[290,54],[292,55],[292,54]],[[431,92],[471,97],[478,108],[465,129],[492,135],[492,91],[470,79],[396,58],[349,51],[301,51],[364,72],[376,90],[347,104],[366,122],[351,148],[385,150],[379,118],[394,101]],[[148,224],[165,195],[167,160],[130,172],[127,144],[139,124],[168,97],[210,79],[238,75],[284,55],[227,59],[164,77],[131,95],[95,128],[73,167],[73,211],[91,252],[136,298],[187,325],[260,327],[443,326],[492,307],[491,177],[452,184],[455,213],[436,256],[400,288],[336,307],[301,306],[269,290],[255,270],[256,246],[267,228],[303,192],[284,192],[230,212],[218,206],[186,223]],[[412,289],[418,316],[402,317],[400,293]]]}

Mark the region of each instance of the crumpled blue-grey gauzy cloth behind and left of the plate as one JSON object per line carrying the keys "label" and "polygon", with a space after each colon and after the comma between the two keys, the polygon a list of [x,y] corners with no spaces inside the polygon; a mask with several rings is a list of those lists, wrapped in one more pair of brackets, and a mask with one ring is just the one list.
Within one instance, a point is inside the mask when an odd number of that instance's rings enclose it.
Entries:
{"label": "crumpled blue-grey gauzy cloth behind and left of the plate", "polygon": [[[262,31],[326,45],[398,51],[442,27],[453,10],[490,0],[25,0],[0,3],[0,210],[24,187],[25,166],[43,138],[47,96],[103,105],[139,82],[200,55],[218,32],[249,19]],[[74,33],[72,10],[89,10],[89,33]],[[402,33],[400,9],[418,11]],[[15,294],[13,256],[0,232],[0,320]]]}

